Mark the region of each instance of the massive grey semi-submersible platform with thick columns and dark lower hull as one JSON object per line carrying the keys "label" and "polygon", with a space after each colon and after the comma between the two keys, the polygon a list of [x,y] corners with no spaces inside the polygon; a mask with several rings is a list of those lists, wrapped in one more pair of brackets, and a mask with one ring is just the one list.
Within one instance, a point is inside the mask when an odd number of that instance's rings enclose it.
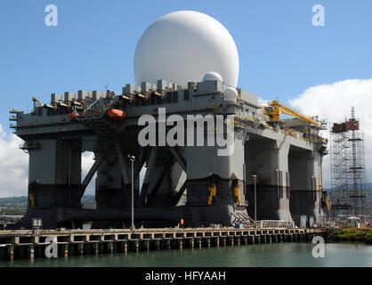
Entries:
{"label": "massive grey semi-submersible platform with thick columns and dark lower hull", "polygon": [[[128,155],[135,157],[136,225],[173,226],[181,219],[185,226],[231,225],[255,215],[257,220],[292,221],[299,215],[319,220],[325,205],[321,164],[327,153],[319,128],[302,118],[273,121],[255,94],[238,89],[238,97],[231,98],[224,90],[220,81],[190,82],[182,89],[158,80],[158,85],[125,85],[122,95],[80,90],[52,94],[44,105],[34,97],[31,113],[11,110],[16,121],[11,127],[29,155],[28,210],[17,226],[31,228],[32,218],[42,218],[44,228],[81,227],[88,221],[93,228],[129,227]],[[151,125],[139,126],[144,114],[153,118],[156,145],[139,143],[141,130]],[[226,146],[206,142],[231,134],[226,121],[217,125],[218,116],[228,115],[233,115],[233,151],[219,155]],[[169,145],[166,135],[174,118],[184,126],[184,143],[177,133],[181,143]],[[198,133],[208,125],[206,118],[213,118],[213,127]],[[190,120],[195,125],[188,134]],[[159,131],[163,126],[166,134]],[[84,151],[94,153],[94,163],[82,177]],[[95,174],[96,209],[84,209],[80,200]]]}

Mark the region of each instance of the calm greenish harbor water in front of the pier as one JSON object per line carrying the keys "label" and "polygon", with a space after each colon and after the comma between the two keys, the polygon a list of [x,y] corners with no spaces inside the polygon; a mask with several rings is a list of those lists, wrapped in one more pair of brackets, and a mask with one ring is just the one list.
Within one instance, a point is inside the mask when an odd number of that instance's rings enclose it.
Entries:
{"label": "calm greenish harbor water in front of the pier", "polygon": [[315,244],[284,242],[220,248],[183,248],[14,261],[0,267],[372,267],[372,247],[361,243],[326,243],[324,257],[313,257]]}

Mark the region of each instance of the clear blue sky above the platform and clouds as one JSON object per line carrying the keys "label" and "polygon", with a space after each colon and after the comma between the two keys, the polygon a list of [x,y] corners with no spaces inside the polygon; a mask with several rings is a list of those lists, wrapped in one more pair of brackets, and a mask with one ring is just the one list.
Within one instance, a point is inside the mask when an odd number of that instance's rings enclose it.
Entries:
{"label": "clear blue sky above the platform and clouds", "polygon": [[[58,7],[58,27],[44,8]],[[311,24],[314,4],[325,27]],[[195,10],[219,20],[239,50],[239,86],[288,102],[311,86],[372,75],[372,1],[2,1],[0,124],[8,107],[29,110],[36,95],[78,89],[121,91],[133,83],[133,53],[162,15]]]}

